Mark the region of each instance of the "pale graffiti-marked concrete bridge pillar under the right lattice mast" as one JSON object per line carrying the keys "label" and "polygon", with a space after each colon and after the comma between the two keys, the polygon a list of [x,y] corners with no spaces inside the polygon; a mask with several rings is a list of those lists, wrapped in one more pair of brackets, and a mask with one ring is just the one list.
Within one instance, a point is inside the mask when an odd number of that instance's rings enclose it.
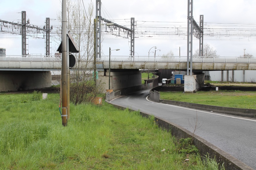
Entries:
{"label": "pale graffiti-marked concrete bridge pillar under the right lattice mast", "polygon": [[185,75],[184,76],[184,91],[196,92],[204,86],[204,73]]}

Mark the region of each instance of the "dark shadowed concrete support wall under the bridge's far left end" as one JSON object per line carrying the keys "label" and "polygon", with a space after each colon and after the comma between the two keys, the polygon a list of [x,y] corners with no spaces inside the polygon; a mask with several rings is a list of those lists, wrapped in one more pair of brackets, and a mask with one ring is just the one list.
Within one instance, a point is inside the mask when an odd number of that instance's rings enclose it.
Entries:
{"label": "dark shadowed concrete support wall under the bridge's far left end", "polygon": [[51,87],[50,71],[0,71],[0,91]]}

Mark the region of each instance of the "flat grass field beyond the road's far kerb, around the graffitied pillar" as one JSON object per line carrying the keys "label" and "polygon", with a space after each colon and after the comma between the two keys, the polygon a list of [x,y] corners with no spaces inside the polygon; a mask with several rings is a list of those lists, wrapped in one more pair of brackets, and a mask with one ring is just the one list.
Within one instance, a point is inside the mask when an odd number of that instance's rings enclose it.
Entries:
{"label": "flat grass field beyond the road's far kerb, around the graffitied pillar", "polygon": [[[226,86],[224,82],[210,82]],[[233,82],[232,82],[233,83]],[[227,83],[227,84],[230,84]],[[242,85],[241,83],[237,83]],[[255,84],[245,83],[245,86]],[[230,84],[231,86],[231,84]],[[160,98],[166,100],[183,101],[189,103],[222,106],[230,108],[256,109],[256,91],[219,90],[197,91],[196,93],[183,93],[182,91],[160,91]]]}

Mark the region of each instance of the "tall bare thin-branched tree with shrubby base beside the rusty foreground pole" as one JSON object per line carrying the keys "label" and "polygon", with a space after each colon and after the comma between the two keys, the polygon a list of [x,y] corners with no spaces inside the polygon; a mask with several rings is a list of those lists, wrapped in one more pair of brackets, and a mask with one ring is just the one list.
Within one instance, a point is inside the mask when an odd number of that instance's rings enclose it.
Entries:
{"label": "tall bare thin-branched tree with shrubby base beside the rusty foreground pole", "polygon": [[[67,0],[67,29],[79,48],[76,65],[70,72],[70,102],[74,104],[91,102],[100,93],[100,83],[92,78],[94,22],[93,3],[85,10],[82,0]],[[59,14],[59,19],[61,15]]]}

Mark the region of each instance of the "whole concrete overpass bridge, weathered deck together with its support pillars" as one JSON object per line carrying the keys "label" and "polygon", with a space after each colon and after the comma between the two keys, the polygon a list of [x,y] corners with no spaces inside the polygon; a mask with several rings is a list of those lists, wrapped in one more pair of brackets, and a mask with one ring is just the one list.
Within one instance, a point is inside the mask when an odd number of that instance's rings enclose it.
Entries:
{"label": "whole concrete overpass bridge, weathered deck together with its support pillars", "polygon": [[[87,63],[93,70],[94,62]],[[78,65],[76,63],[75,67]],[[141,84],[139,69],[170,69],[187,71],[187,57],[162,56],[112,56],[96,62],[99,79],[105,82],[104,89],[123,89]],[[256,70],[255,57],[193,57],[193,76],[185,76],[185,91],[197,91],[204,84],[202,71]],[[0,91],[27,90],[51,86],[51,72],[61,70],[61,56],[0,56]],[[187,87],[187,89],[186,89]]]}

